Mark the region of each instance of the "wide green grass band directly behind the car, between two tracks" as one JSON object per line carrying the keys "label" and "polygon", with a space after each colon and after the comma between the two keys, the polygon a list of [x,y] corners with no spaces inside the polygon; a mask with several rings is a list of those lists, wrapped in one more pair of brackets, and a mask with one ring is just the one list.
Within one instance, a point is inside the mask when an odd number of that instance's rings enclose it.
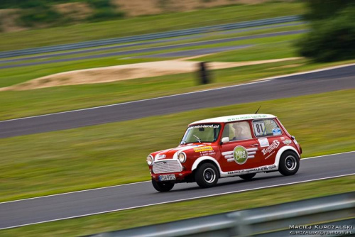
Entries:
{"label": "wide green grass band directly behind the car, between two tracks", "polygon": [[[230,114],[275,114],[302,157],[355,150],[354,89],[199,109],[1,139],[0,202],[149,180],[146,155],[175,147],[188,123]],[[344,126],[346,125],[346,126]],[[83,182],[84,180],[84,182]]]}

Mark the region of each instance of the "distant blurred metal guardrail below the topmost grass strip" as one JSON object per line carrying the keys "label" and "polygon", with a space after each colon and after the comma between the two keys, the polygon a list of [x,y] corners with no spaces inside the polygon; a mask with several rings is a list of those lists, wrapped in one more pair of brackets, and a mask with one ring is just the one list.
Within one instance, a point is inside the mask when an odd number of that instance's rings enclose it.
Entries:
{"label": "distant blurred metal guardrail below the topmost grass strip", "polygon": [[121,37],[121,38],[111,38],[107,40],[92,40],[92,41],[86,41],[80,43],[70,43],[65,45],[53,45],[53,46],[46,46],[40,48],[28,48],[24,50],[11,50],[11,51],[1,52],[0,58],[33,55],[38,53],[50,53],[50,52],[62,51],[62,50],[77,50],[80,48],[98,47],[103,45],[113,45],[117,43],[128,43],[128,42],[143,41],[143,40],[155,40],[159,38],[169,38],[169,37],[177,37],[183,35],[194,35],[194,34],[207,33],[212,31],[227,31],[227,30],[233,30],[237,28],[248,28],[253,26],[265,26],[265,25],[278,24],[278,23],[288,23],[292,21],[300,21],[300,19],[301,19],[300,16],[283,16],[283,17],[276,17],[276,18],[266,18],[266,19],[256,20],[256,21],[244,21],[240,23],[229,23],[224,25],[205,26],[200,28],[191,28],[191,29],[179,30],[179,31],[168,31],[164,33],[151,33],[145,35],[134,35],[134,36]]}

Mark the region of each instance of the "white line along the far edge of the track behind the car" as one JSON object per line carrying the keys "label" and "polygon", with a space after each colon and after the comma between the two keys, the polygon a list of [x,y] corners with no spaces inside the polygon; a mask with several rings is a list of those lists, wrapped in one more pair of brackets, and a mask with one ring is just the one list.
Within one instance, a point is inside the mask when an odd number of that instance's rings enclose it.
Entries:
{"label": "white line along the far edge of the track behind the car", "polygon": [[182,96],[182,95],[185,95],[185,94],[196,94],[196,93],[200,93],[200,92],[209,92],[209,91],[232,88],[232,87],[242,87],[242,86],[246,86],[246,85],[249,85],[249,84],[257,84],[257,83],[261,83],[261,82],[268,82],[268,81],[271,81],[273,79],[278,79],[278,78],[282,78],[282,77],[291,77],[291,76],[297,76],[297,75],[312,74],[312,73],[315,73],[315,72],[334,70],[334,69],[338,69],[338,68],[342,68],[342,67],[350,67],[350,66],[354,66],[354,65],[355,65],[355,63],[347,64],[347,65],[339,65],[339,66],[334,66],[334,67],[326,67],[326,68],[323,68],[323,69],[312,70],[312,71],[307,71],[307,72],[297,72],[297,73],[293,73],[293,74],[289,74],[289,75],[280,75],[280,76],[275,76],[275,77],[267,77],[267,78],[264,78],[264,79],[258,79],[258,81],[256,81],[256,82],[249,82],[249,83],[246,83],[246,84],[236,84],[236,85],[229,86],[229,87],[218,87],[218,88],[213,88],[213,89],[204,89],[204,90],[196,91],[196,92],[186,92],[186,93],[182,93],[182,94],[172,94],[172,95],[165,96],[165,97],[155,97],[155,98],[151,98],[151,99],[141,99],[141,100],[128,101],[128,102],[117,103],[117,104],[108,104],[108,105],[104,105],[104,106],[94,106],[94,107],[90,107],[90,108],[86,108],[86,109],[75,109],[75,110],[62,111],[62,112],[52,113],[52,114],[41,114],[41,115],[27,116],[27,117],[22,117],[22,118],[12,118],[12,119],[9,119],[9,120],[0,121],[0,123],[4,123],[4,122],[7,122],[7,121],[16,121],[16,120],[21,120],[21,119],[26,119],[26,118],[38,118],[38,117],[43,117],[43,116],[55,115],[55,114],[67,114],[67,113],[71,113],[71,112],[75,112],[75,111],[85,111],[85,110],[90,110],[90,109],[99,109],[99,108],[105,108],[105,107],[116,106],[116,105],[121,105],[121,104],[132,104],[132,103],[141,102],[141,101],[151,101],[151,100],[155,100],[155,99],[178,97],[178,96]]}

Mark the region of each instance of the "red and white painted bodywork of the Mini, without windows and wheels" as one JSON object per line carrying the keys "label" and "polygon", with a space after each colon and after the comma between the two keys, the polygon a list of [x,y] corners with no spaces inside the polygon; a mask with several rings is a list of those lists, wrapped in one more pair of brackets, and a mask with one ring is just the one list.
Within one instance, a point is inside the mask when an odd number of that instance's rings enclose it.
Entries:
{"label": "red and white painted bodywork of the Mini, without windows and wheels", "polygon": [[[246,119],[243,119],[244,117]],[[233,119],[234,118],[234,119]],[[238,119],[237,119],[238,118]],[[275,135],[271,136],[256,136],[256,127],[253,124],[256,121],[273,120],[277,124]],[[190,126],[219,124],[221,126],[217,140],[210,143],[187,143],[179,145],[177,148],[168,150],[160,150],[150,155],[153,157],[153,164],[149,165],[151,177],[153,180],[160,181],[160,175],[175,175],[176,180],[172,182],[192,182],[190,179],[194,170],[201,162],[212,162],[219,170],[219,177],[229,177],[255,172],[271,172],[278,170],[278,162],[280,156],[287,150],[292,150],[297,153],[298,159],[302,153],[300,145],[295,138],[286,131],[282,123],[272,115],[255,114],[241,116],[226,116],[211,120],[197,121],[191,123]],[[251,138],[244,140],[230,140],[222,143],[222,133],[224,127],[229,123],[247,122],[251,131]],[[246,124],[246,123],[244,123]],[[264,128],[266,130],[266,128]],[[238,150],[238,148],[240,150]],[[238,162],[238,152],[243,153],[246,150],[247,158],[241,159],[243,162]],[[180,162],[178,154],[185,153],[186,161]],[[165,162],[165,163],[164,163]],[[158,172],[155,173],[153,165],[173,164],[175,167],[181,165],[181,170],[175,172]],[[168,165],[166,165],[168,170]],[[168,170],[169,171],[169,170]]]}

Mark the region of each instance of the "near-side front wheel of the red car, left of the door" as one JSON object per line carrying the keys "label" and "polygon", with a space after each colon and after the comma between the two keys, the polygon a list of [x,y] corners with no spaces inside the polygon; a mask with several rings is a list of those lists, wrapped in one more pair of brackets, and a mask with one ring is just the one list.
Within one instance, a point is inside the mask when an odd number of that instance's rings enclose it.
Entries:
{"label": "near-side front wheel of the red car, left of the door", "polygon": [[210,163],[200,165],[195,172],[195,180],[202,188],[216,186],[218,177],[219,172],[217,168]]}

